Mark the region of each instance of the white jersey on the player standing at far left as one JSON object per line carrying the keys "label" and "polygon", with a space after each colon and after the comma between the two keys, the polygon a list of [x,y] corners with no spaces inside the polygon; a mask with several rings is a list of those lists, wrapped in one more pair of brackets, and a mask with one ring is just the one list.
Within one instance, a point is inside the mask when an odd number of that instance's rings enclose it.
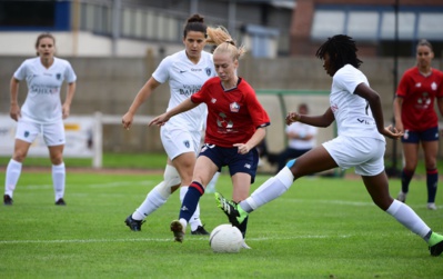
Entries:
{"label": "white jersey on the player standing at far left", "polygon": [[28,96],[21,107],[21,117],[26,121],[53,123],[62,120],[60,88],[63,81],[74,82],[77,76],[71,64],[63,59],[54,58],[47,69],[40,58],[31,58],[13,73],[17,80],[27,80]]}

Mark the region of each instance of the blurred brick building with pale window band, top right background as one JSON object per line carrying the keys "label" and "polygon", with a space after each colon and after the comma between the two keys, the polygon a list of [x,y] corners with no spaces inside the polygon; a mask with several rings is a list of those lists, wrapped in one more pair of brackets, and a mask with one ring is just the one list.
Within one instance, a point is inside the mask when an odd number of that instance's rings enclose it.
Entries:
{"label": "blurred brick building with pale window band, top right background", "polygon": [[441,57],[442,26],[442,0],[298,0],[290,54],[312,56],[325,38],[346,33],[364,56],[411,57],[424,38]]}

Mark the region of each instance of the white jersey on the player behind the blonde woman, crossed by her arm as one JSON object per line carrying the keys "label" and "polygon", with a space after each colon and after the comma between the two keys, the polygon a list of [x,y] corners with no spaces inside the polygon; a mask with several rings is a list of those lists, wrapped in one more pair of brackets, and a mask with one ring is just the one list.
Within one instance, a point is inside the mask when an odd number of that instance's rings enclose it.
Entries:
{"label": "white jersey on the player behind the blonde woman, crossed by her arm", "polygon": [[[169,81],[171,98],[167,111],[198,92],[208,79],[215,76],[211,53],[202,51],[199,63],[194,64],[189,60],[185,50],[164,58],[152,73],[152,78],[160,83]],[[182,127],[189,131],[201,131],[207,120],[207,106],[202,103],[172,117],[165,124]]]}

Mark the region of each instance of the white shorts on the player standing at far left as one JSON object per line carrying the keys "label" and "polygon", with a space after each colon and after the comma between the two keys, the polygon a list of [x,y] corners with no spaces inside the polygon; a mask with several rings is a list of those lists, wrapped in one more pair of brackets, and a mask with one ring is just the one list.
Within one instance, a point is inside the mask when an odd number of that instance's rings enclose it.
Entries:
{"label": "white shorts on the player standing at far left", "polygon": [[40,133],[48,147],[63,146],[66,143],[63,121],[41,124],[19,120],[17,123],[16,139],[32,143]]}

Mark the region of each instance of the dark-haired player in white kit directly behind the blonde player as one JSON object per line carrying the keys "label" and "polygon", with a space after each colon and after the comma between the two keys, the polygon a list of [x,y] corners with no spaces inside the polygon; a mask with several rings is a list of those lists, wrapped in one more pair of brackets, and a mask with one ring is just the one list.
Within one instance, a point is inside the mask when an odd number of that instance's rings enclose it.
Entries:
{"label": "dark-haired player in white kit directly behind the blonde player", "polygon": [[[131,127],[138,108],[160,84],[169,81],[171,91],[169,110],[199,91],[208,79],[217,76],[212,54],[203,51],[207,37],[207,24],[203,18],[199,14],[191,16],[183,30],[184,50],[161,61],[123,116],[122,124],[124,129]],[[161,128],[161,141],[168,153],[164,180],[157,185],[139,208],[124,220],[132,231],[140,231],[144,219],[164,205],[171,193],[179,188],[180,200],[183,200],[192,180],[205,116],[207,107],[201,106],[171,119],[168,124]],[[209,235],[200,220],[199,207],[190,225],[192,235]]]}

